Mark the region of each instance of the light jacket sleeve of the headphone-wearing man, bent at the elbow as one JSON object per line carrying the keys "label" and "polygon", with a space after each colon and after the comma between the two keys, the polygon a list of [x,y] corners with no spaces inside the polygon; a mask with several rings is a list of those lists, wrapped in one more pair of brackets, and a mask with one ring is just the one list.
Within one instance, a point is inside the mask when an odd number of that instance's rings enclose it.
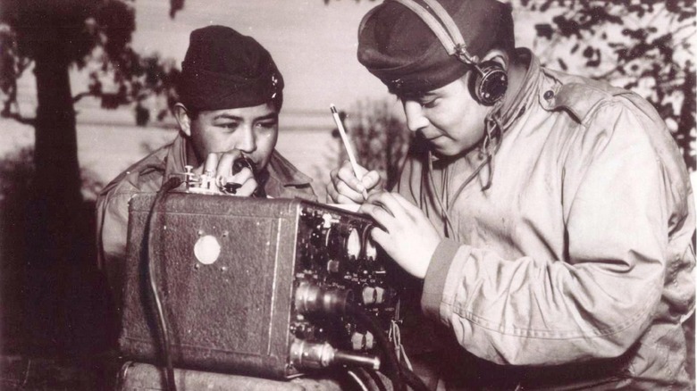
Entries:
{"label": "light jacket sleeve of the headphone-wearing man, bent at the elbow", "polygon": [[424,280],[424,312],[501,364],[625,353],[651,323],[667,272],[670,179],[647,136],[662,126],[653,120],[612,99],[572,138],[560,172],[564,259],[504,259],[446,239]]}

